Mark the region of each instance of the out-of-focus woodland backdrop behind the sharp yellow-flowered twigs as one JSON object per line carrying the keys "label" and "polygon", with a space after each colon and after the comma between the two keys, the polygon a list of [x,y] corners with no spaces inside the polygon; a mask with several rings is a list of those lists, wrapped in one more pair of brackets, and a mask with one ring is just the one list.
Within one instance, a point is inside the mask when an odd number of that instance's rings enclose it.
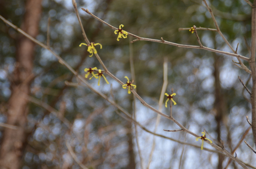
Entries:
{"label": "out-of-focus woodland backdrop behind the sharp yellow-flowered twigs", "polygon": [[[80,75],[85,74],[84,68],[97,66],[102,69],[95,56],[88,57],[85,46],[79,47],[84,40],[71,0],[37,0],[37,4],[32,6],[31,2],[35,3],[33,0],[0,1],[0,15],[44,44],[50,18],[50,46],[58,55]],[[253,145],[253,136],[251,130],[245,132],[249,127],[245,116],[251,116],[249,94],[237,76],[244,83],[251,79],[248,73],[234,66],[232,59],[237,62],[235,58],[161,43],[138,41],[130,44],[133,40],[131,37],[118,42],[113,30],[80,9],[89,9],[115,27],[123,24],[124,30],[141,37],[163,37],[174,43],[198,45],[194,34],[179,32],[178,28],[193,25],[215,28],[202,1],[77,0],[76,3],[89,40],[102,44],[103,48],[98,53],[112,74],[123,82],[126,82],[124,76],[131,79],[132,55],[137,92],[148,104],[158,107],[163,83],[163,58],[166,57],[166,92],[170,93],[173,88],[177,94],[174,99],[177,105],[172,110],[174,118],[194,133],[200,134],[206,130],[207,138],[215,142],[222,140],[229,152],[239,145],[237,157],[248,165],[256,166],[253,161],[255,154],[253,156],[244,143],[239,143],[245,139]],[[249,57],[246,44],[251,43],[251,7],[243,0],[213,0],[209,4],[221,31],[233,48],[239,43],[238,54]],[[37,15],[32,15],[31,11],[37,11]],[[26,22],[30,17],[32,21],[29,23],[32,25]],[[33,21],[37,18],[38,21]],[[35,33],[30,33],[29,28]],[[204,46],[231,52],[217,32],[197,33]],[[136,132],[131,122],[121,118],[112,105],[90,89],[79,86],[76,77],[49,51],[34,46],[2,21],[0,39],[0,122],[2,125],[18,126],[18,129],[1,127],[1,165],[13,164],[22,169],[75,169],[81,167],[80,161],[87,168],[104,169],[147,168],[149,163],[150,168],[166,169],[193,169],[202,165],[204,168],[218,169],[240,167],[235,162],[229,164],[229,158],[221,154],[201,151],[200,148],[161,137],[156,137],[156,148],[152,160],[148,161],[152,134],[138,128],[136,142]],[[27,50],[20,48],[24,44],[22,40],[32,44],[29,59],[21,57],[20,50]],[[25,67],[30,65],[31,71],[25,71],[26,75],[20,74],[23,64]],[[148,130],[154,131],[157,114],[141,105],[138,99],[134,100],[132,94],[128,95],[127,90],[109,76],[106,78],[110,84],[102,80],[101,86],[97,86],[96,79],[88,80],[95,89],[114,99],[129,113],[136,112],[136,119]],[[24,84],[27,87],[25,93]],[[249,89],[250,85],[247,84]],[[26,95],[30,95],[30,99],[25,99]],[[12,98],[23,102],[23,107]],[[44,104],[56,110],[45,109]],[[12,116],[14,106],[20,116]],[[169,114],[169,108],[162,112]],[[200,147],[191,135],[167,133],[163,129],[177,129],[177,125],[161,118],[157,133]],[[12,141],[10,138],[13,138]],[[210,148],[209,145],[205,147]],[[9,151],[10,156],[3,150]],[[9,163],[6,161],[8,159]],[[2,168],[8,168],[8,165]]]}

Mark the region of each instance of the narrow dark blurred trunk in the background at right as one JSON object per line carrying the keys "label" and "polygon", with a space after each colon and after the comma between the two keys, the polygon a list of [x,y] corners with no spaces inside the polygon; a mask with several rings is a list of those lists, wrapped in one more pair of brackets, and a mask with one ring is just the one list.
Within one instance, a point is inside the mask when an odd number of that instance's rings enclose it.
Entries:
{"label": "narrow dark blurred trunk in the background at right", "polygon": [[[215,62],[214,62],[214,78],[215,78],[215,103],[214,103],[214,110],[215,110],[215,120],[217,122],[217,128],[216,133],[218,135],[218,142],[221,142],[221,123],[223,123],[225,114],[227,111],[226,108],[226,102],[224,99],[224,95],[221,91],[221,82],[219,80],[219,67],[221,66],[221,63],[223,62],[223,57],[217,56],[215,54],[214,56]],[[217,169],[222,169],[222,163],[224,160],[224,156],[222,154],[218,154],[219,156],[219,164]]]}

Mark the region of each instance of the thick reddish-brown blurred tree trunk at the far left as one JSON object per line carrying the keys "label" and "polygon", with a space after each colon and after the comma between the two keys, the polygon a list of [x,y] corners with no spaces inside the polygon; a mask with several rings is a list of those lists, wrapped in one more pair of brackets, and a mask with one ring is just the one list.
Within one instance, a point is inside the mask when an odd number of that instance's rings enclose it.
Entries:
{"label": "thick reddish-brown blurred tree trunk at the far left", "polygon": [[[27,0],[21,29],[35,37],[41,15],[41,0]],[[11,76],[11,97],[8,101],[7,123],[17,130],[5,128],[0,149],[0,169],[19,169],[27,142],[26,124],[29,112],[26,95],[30,93],[33,79],[33,55],[35,44],[20,36],[16,47],[16,65]]]}

